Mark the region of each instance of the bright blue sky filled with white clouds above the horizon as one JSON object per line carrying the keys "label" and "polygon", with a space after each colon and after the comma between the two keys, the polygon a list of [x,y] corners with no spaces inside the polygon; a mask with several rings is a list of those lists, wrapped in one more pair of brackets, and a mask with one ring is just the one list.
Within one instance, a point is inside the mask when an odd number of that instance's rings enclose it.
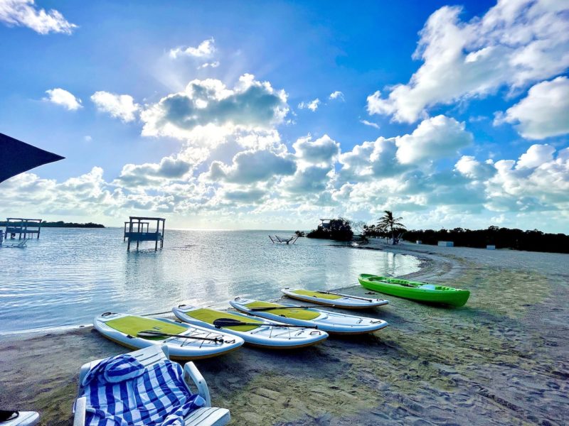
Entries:
{"label": "bright blue sky filled with white clouds above the horizon", "polygon": [[569,232],[554,3],[0,0],[0,131],[66,157],[0,214]]}

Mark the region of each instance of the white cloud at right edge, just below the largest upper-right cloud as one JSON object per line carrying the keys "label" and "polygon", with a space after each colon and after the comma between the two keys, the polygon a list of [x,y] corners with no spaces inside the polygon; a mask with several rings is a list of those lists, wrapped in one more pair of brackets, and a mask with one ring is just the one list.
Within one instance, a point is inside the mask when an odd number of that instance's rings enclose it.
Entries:
{"label": "white cloud at right edge, just below the largest upper-right cloud", "polygon": [[557,77],[531,87],[527,97],[497,116],[495,124],[502,121],[515,124],[526,139],[569,133],[569,79]]}

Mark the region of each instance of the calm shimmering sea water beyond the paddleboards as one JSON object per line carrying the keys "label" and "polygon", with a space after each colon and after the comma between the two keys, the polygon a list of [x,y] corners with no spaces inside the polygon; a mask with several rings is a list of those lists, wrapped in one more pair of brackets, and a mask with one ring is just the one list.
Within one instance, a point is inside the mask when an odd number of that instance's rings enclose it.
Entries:
{"label": "calm shimmering sea water beyond the paddleboards", "polygon": [[[122,229],[45,228],[26,249],[0,249],[0,335],[90,324],[102,312],[145,315],[186,302],[228,307],[236,296],[270,300],[280,288],[340,288],[358,273],[403,275],[414,256],[353,250],[301,238],[272,244],[275,231],[165,231],[127,251]],[[280,236],[292,234],[279,231]]]}

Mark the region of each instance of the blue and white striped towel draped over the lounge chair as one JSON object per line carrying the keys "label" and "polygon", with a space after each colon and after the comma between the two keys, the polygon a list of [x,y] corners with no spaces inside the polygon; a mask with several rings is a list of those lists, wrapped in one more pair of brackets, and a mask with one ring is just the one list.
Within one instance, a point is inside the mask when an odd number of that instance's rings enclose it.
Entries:
{"label": "blue and white striped towel draped over the lounge chair", "polygon": [[168,360],[148,367],[128,354],[102,360],[82,383],[85,424],[183,426],[184,417],[206,401],[188,391],[182,374]]}

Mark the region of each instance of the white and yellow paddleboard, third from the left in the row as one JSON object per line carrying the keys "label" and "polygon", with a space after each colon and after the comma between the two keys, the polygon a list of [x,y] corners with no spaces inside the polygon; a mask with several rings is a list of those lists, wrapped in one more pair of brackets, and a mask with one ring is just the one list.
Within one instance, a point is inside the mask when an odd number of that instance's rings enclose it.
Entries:
{"label": "white and yellow paddleboard, third from the left in the row", "polygon": [[377,318],[356,317],[355,315],[348,315],[342,312],[331,312],[314,308],[299,307],[298,309],[255,311],[252,310],[255,305],[270,307],[296,307],[296,305],[261,302],[259,300],[244,299],[241,297],[232,300],[230,305],[235,307],[236,310],[249,315],[255,315],[256,317],[262,317],[277,322],[285,322],[291,325],[318,327],[319,330],[323,330],[329,334],[367,334],[377,332],[388,325],[387,322],[378,320]]}

